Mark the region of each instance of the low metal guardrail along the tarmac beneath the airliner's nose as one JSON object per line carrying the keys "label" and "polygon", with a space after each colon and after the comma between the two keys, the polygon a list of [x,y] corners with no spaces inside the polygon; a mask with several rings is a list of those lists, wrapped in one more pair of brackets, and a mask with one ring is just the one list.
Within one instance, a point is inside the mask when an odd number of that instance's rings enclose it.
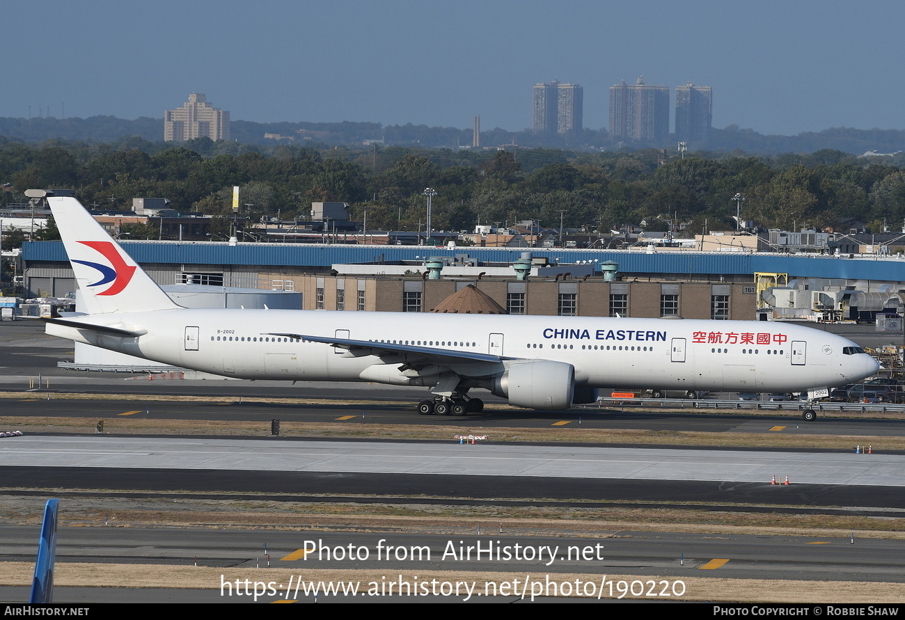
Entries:
{"label": "low metal guardrail along the tarmac beneath the airliner's nose", "polygon": [[[803,412],[807,408],[811,408],[816,412],[821,411],[840,411],[866,414],[870,412],[880,413],[900,413],[905,415],[905,405],[895,405],[891,403],[832,403],[819,402],[814,403],[810,407],[807,403],[794,400],[786,401],[766,401],[766,400],[714,400],[714,399],[696,399],[691,398],[597,398],[596,405],[635,405],[635,406],[653,406],[668,407],[670,409],[684,409],[690,407],[693,409],[755,409],[765,411],[797,411]],[[586,407],[594,406],[594,404],[585,405]]]}

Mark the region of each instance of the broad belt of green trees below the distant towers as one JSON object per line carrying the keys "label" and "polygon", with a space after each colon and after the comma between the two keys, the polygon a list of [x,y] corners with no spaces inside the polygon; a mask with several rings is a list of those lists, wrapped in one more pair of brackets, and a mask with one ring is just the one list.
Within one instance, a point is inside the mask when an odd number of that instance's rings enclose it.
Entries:
{"label": "broad belt of green trees below the distant towers", "polygon": [[754,157],[659,149],[633,153],[549,148],[506,150],[260,147],[198,138],[178,146],[124,138],[107,144],[54,140],[25,145],[0,138],[0,206],[25,202],[28,188],[74,189],[84,205],[130,209],[133,197],[163,197],[182,212],[231,213],[240,186],[243,216],[307,219],[310,203],[341,201],[351,217],[367,210],[370,230],[424,227],[425,187],[433,187],[433,228],[542,225],[606,232],[672,221],[688,234],[734,228],[742,217],[765,227],[838,226],[845,218],[899,230],[905,173],[896,157],[836,150]]}

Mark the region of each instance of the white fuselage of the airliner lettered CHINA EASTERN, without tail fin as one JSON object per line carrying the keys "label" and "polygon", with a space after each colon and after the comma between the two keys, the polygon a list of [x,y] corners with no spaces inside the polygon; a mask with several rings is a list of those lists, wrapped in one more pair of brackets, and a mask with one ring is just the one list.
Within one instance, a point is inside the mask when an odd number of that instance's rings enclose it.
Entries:
{"label": "white fuselage of the airliner lettered CHINA EASTERN, without tail fin", "polygon": [[[92,323],[138,327],[137,338],[65,326],[48,332],[177,367],[227,377],[378,381],[434,385],[443,367],[490,377],[508,362],[549,360],[575,368],[576,386],[803,391],[868,376],[875,362],[822,330],[758,321],[606,319],[321,310],[157,310],[95,315]],[[304,334],[488,354],[399,371],[405,352],[377,357],[292,337]]]}

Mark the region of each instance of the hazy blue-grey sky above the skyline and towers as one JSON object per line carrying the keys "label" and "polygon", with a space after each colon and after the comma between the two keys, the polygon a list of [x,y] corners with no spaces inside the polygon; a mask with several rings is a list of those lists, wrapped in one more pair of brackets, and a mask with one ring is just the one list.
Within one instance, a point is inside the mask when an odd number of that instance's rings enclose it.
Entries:
{"label": "hazy blue-grey sky above the skyline and towers", "polygon": [[[191,91],[232,119],[519,130],[531,87],[713,88],[713,125],[905,129],[905,2],[50,0],[2,12],[0,116],[161,118]],[[672,125],[671,125],[672,128]]]}

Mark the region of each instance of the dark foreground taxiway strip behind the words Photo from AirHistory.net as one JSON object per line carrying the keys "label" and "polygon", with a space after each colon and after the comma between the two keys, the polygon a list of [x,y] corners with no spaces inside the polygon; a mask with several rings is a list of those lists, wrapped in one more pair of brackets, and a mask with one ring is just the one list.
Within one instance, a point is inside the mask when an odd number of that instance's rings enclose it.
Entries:
{"label": "dark foreground taxiway strip behind the words Photo from AirHistory.net", "polygon": [[[468,524],[472,526],[472,523]],[[11,560],[33,557],[37,527],[0,526],[0,544]],[[253,529],[61,528],[58,561],[116,564],[170,564],[216,568],[254,568],[271,556],[273,568],[355,568],[368,570],[481,571],[499,562],[491,554],[466,558],[462,546],[481,540],[491,545],[516,544],[557,549],[544,558],[510,558],[515,573],[629,573],[673,577],[824,579],[905,582],[905,540],[827,539],[728,535],[716,539],[697,533],[614,530],[585,536],[525,536],[487,528],[477,536],[471,527],[450,534],[386,532],[319,532]],[[450,547],[449,543],[453,545]],[[307,543],[307,544],[306,544]],[[313,543],[313,544],[312,544]],[[349,557],[348,547],[356,549]],[[263,549],[265,548],[265,552]],[[300,548],[319,552],[299,553]],[[346,548],[347,552],[338,552]],[[405,549],[405,554],[387,553]],[[416,554],[408,553],[416,548]],[[570,548],[572,555],[570,556]],[[581,548],[579,557],[575,548]],[[454,551],[454,553],[450,553]],[[445,554],[445,558],[444,558]],[[702,569],[713,558],[731,558],[719,569]]]}

